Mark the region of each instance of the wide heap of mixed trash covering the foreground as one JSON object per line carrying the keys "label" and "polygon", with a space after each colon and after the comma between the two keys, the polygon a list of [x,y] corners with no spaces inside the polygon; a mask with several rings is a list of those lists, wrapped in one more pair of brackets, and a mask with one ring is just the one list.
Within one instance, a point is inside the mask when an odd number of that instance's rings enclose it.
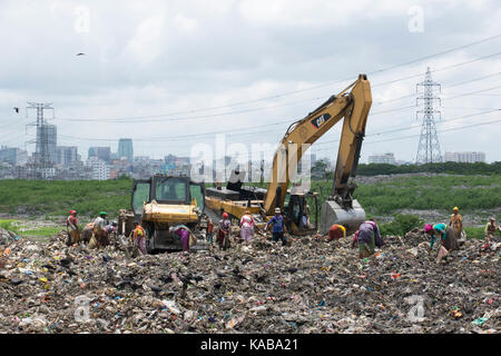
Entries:
{"label": "wide heap of mixed trash covering the foreground", "polygon": [[501,248],[481,251],[480,240],[438,265],[420,231],[385,238],[365,259],[350,238],[283,247],[256,237],[226,251],[137,258],[65,238],[0,241],[1,333],[501,330]]}

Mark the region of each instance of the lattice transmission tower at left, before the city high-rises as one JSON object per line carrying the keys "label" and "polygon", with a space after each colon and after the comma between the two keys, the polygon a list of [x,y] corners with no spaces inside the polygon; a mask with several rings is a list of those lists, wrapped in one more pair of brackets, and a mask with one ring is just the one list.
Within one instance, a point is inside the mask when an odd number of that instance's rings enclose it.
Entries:
{"label": "lattice transmission tower at left, before the city high-rises", "polygon": [[29,144],[36,144],[33,157],[36,178],[47,179],[48,169],[52,167],[52,161],[49,152],[49,129],[47,120],[43,118],[43,110],[52,110],[53,112],[52,103],[28,102],[28,105],[27,115],[29,109],[37,110],[37,121],[27,125],[37,127],[36,139],[29,141]]}

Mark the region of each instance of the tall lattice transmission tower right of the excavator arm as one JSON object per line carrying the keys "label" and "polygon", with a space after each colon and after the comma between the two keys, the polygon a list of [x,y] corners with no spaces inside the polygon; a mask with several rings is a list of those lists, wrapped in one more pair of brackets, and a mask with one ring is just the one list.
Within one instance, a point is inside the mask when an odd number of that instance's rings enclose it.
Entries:
{"label": "tall lattice transmission tower right of the excavator arm", "polygon": [[415,162],[416,165],[441,162],[442,154],[440,151],[439,136],[436,135],[435,128],[435,113],[441,118],[441,112],[433,108],[434,100],[439,100],[440,102],[440,98],[433,95],[434,87],[439,87],[440,92],[440,83],[432,80],[430,67],[426,70],[424,81],[418,83],[416,89],[420,86],[423,87],[423,95],[418,97],[416,105],[420,100],[423,100],[424,108],[423,110],[416,111],[416,118],[420,113],[422,115],[423,126],[421,127]]}

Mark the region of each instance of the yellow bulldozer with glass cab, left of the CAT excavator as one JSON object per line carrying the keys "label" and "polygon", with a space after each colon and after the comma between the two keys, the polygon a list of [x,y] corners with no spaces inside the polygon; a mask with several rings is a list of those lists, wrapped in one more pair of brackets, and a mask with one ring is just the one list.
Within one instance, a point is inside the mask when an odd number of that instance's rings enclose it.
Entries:
{"label": "yellow bulldozer with glass cab, left of the CAT excavator", "polygon": [[[155,175],[149,179],[135,179],[130,206],[131,209],[119,210],[119,235],[129,236],[137,221],[146,230],[148,254],[181,250],[180,240],[169,228],[185,225],[196,233],[204,226],[205,186],[189,177]],[[207,246],[204,239],[198,239],[190,248],[207,249]]]}

